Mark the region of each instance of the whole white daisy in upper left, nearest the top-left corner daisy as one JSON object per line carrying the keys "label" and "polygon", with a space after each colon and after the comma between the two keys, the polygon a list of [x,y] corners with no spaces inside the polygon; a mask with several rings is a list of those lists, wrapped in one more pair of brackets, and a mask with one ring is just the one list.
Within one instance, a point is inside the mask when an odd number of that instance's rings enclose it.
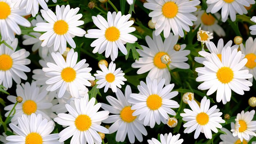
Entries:
{"label": "whole white daisy in upper left, nearest the top-left corner daisy", "polygon": [[70,9],[70,5],[66,7],[62,5],[56,6],[56,15],[52,10],[47,11],[41,9],[43,18],[49,22],[39,22],[36,24],[34,31],[46,32],[39,37],[42,40],[42,47],[51,47],[54,45],[54,51],[59,51],[61,54],[67,48],[67,42],[72,48],[76,48],[76,43],[72,38],[75,36],[82,37],[86,32],[79,28],[83,25],[82,14],[76,14],[79,8]]}

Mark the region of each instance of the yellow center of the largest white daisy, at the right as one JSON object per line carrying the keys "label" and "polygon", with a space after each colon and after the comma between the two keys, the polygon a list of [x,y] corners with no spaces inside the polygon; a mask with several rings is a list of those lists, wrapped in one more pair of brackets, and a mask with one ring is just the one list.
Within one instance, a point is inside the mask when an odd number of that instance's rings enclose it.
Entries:
{"label": "yellow center of the largest white daisy, at the right", "polygon": [[217,71],[216,76],[220,82],[227,84],[233,80],[234,72],[229,67],[224,66]]}

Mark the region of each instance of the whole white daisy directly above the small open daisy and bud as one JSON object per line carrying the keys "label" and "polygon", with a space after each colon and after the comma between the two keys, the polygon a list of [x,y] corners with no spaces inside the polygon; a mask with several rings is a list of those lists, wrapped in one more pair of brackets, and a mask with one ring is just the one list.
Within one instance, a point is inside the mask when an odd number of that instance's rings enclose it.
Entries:
{"label": "whole white daisy directly above the small open daisy and bud", "polygon": [[136,30],[135,27],[130,27],[134,23],[133,20],[129,20],[130,17],[130,14],[121,16],[121,11],[112,14],[109,11],[108,21],[101,15],[92,16],[93,23],[99,28],[89,29],[85,34],[85,38],[97,38],[91,44],[91,47],[95,47],[92,53],[101,54],[105,51],[106,58],[110,56],[112,61],[117,58],[118,49],[127,55],[124,44],[135,43],[138,40],[130,34]]}

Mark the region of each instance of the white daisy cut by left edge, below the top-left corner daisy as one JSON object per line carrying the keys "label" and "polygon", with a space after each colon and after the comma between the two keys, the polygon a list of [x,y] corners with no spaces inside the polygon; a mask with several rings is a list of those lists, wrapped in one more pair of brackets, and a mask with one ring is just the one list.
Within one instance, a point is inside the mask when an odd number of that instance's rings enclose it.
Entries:
{"label": "white daisy cut by left edge, below the top-left corner daisy", "polygon": [[20,84],[20,78],[27,80],[27,75],[24,72],[30,72],[30,69],[25,65],[30,64],[31,61],[27,59],[29,56],[28,51],[25,49],[16,51],[18,46],[17,38],[15,38],[13,42],[10,42],[9,40],[6,42],[13,48],[13,50],[5,44],[0,45],[0,84],[8,89],[12,86],[12,79],[17,84]]}

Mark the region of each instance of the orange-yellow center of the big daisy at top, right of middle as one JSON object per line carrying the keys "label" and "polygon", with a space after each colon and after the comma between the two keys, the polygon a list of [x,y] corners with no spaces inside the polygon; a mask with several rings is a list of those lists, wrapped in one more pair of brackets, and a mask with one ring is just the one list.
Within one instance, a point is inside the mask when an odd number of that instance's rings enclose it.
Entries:
{"label": "orange-yellow center of the big daisy at top, right of middle", "polygon": [[174,2],[166,2],[162,7],[162,12],[166,18],[174,18],[178,13],[178,6]]}

